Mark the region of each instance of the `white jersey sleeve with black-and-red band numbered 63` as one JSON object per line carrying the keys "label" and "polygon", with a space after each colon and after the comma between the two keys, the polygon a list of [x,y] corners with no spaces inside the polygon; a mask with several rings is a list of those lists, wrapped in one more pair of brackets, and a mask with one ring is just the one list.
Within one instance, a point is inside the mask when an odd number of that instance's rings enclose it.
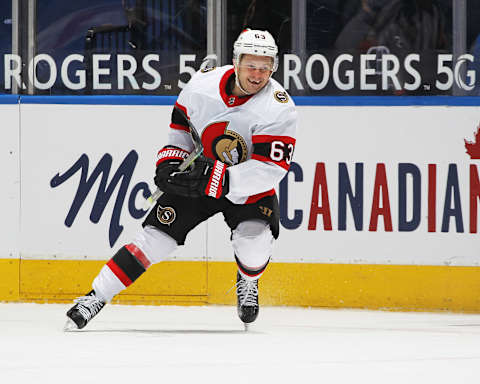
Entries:
{"label": "white jersey sleeve with black-and-red band numbered 63", "polygon": [[249,160],[228,168],[227,198],[235,204],[252,201],[252,196],[275,188],[286,175],[293,158],[297,130],[295,107],[285,108],[276,119],[261,124],[252,135]]}

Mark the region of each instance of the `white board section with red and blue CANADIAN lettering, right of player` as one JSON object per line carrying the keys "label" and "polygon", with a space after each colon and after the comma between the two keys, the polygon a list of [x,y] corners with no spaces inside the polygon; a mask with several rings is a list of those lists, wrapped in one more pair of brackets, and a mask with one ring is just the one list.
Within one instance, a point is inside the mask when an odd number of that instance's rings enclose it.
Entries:
{"label": "white board section with red and blue CANADIAN lettering, right of player", "polygon": [[[480,174],[480,161],[466,153],[464,139],[472,140],[480,123],[479,108],[463,107],[301,107],[301,123],[294,161],[303,171],[303,181],[289,179],[289,217],[295,209],[303,218],[296,229],[283,230],[276,246],[275,260],[327,263],[380,263],[480,265],[478,213],[476,233],[470,232],[470,169]],[[323,163],[328,188],[331,230],[323,227],[325,215],[310,221],[316,164]],[[344,164],[344,165],[341,165]],[[340,229],[342,205],[340,181],[348,180],[355,191],[356,164],[363,169],[362,228],[355,227],[353,210],[346,199],[345,229]],[[370,228],[375,185],[380,185],[377,168],[385,167],[392,228],[378,216]],[[435,168],[435,199],[429,195],[429,165]],[[348,169],[349,178],[340,176]],[[418,170],[419,222],[413,220],[413,176],[405,177],[399,189],[400,169]],[[380,176],[380,175],[379,175]],[[447,188],[448,187],[448,188]],[[323,188],[326,189],[326,188]],[[381,191],[384,191],[382,188]],[[431,193],[430,191],[430,193]],[[458,193],[457,193],[458,192]],[[450,198],[448,198],[450,193]],[[321,196],[321,193],[320,193]],[[454,197],[458,196],[458,204]],[[400,201],[405,198],[405,209]],[[445,202],[450,202],[447,208]],[[478,202],[478,199],[477,199]],[[430,210],[429,210],[430,204]],[[321,199],[315,206],[322,205]],[[378,206],[379,204],[377,204]],[[380,200],[380,206],[384,202]],[[433,219],[432,206],[435,207]],[[453,209],[454,208],[454,209]],[[478,211],[478,207],[477,207]],[[406,212],[404,225],[400,213]],[[472,211],[473,212],[473,211]],[[455,215],[452,215],[455,213]],[[473,213],[472,213],[473,214]],[[430,220],[435,223],[429,232]],[[461,217],[460,217],[461,216]],[[458,218],[458,222],[456,221]],[[310,223],[309,223],[310,221]],[[448,222],[448,227],[445,226]],[[297,223],[298,224],[298,223]],[[309,228],[310,224],[310,228]],[[458,224],[458,225],[457,225]],[[430,228],[432,229],[432,228]],[[442,231],[443,230],[443,231]]]}

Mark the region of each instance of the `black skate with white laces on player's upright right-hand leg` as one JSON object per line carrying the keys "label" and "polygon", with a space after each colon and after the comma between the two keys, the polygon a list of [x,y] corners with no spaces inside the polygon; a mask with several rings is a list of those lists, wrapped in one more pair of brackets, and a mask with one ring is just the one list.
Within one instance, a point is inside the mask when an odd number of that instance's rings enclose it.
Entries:
{"label": "black skate with white laces on player's upright right-hand leg", "polygon": [[245,324],[253,323],[258,316],[258,280],[246,280],[237,272],[237,311],[238,317]]}

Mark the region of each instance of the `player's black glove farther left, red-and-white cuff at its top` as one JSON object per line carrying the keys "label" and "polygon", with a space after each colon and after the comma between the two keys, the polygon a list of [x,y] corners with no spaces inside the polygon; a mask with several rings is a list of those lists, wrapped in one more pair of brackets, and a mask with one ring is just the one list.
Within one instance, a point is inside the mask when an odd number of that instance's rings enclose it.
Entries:
{"label": "player's black glove farther left, red-and-white cuff at its top", "polygon": [[163,192],[178,194],[176,189],[171,189],[167,183],[168,178],[174,172],[178,171],[178,166],[187,158],[188,151],[174,146],[165,146],[157,155],[157,169],[153,181],[155,185]]}

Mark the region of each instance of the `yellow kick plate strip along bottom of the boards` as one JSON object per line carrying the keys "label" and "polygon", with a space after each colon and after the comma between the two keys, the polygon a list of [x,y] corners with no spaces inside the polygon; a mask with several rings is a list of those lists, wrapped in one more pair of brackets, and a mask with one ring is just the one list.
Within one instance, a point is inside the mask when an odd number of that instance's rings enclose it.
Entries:
{"label": "yellow kick plate strip along bottom of the boards", "polygon": [[[90,290],[103,261],[0,260],[12,273],[0,300],[71,302]],[[21,279],[12,276],[21,276]],[[204,278],[208,276],[208,279]],[[154,265],[114,303],[233,305],[236,265],[176,261]],[[5,283],[5,282],[3,282]],[[271,263],[260,281],[261,305],[479,312],[480,268]]]}

